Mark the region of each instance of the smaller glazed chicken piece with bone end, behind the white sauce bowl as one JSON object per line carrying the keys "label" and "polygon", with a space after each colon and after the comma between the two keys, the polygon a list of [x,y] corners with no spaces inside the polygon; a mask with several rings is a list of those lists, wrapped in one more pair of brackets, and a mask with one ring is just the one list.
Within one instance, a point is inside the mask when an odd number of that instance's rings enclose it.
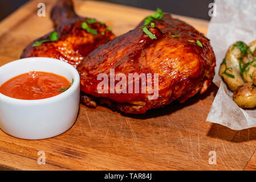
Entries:
{"label": "smaller glazed chicken piece with bone end, behind the white sauce bowl", "polygon": [[[59,40],[46,42],[36,47],[32,46],[36,41],[48,39],[50,35],[48,33],[27,46],[21,58],[52,57],[77,67],[88,53],[115,38],[115,35],[106,29],[105,24],[99,22],[88,24],[90,28],[97,30],[97,35],[83,30],[81,24],[86,22],[87,18],[81,18],[75,14],[71,0],[58,1],[52,9],[51,18],[56,27],[54,31],[59,34]],[[104,32],[104,35],[101,35],[101,32]]]}

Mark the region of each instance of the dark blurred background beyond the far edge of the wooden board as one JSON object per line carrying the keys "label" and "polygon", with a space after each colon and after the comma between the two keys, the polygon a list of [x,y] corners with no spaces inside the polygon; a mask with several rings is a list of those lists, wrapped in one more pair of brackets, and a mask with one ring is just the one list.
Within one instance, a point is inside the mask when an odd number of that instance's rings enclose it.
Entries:
{"label": "dark blurred background beyond the far edge of the wooden board", "polygon": [[[29,0],[0,0],[0,20],[11,14]],[[86,1],[86,0],[85,0]],[[99,0],[96,0],[99,1]],[[105,2],[117,3],[156,10],[160,7],[166,13],[190,16],[209,20],[208,5],[213,0],[104,0]],[[43,2],[43,1],[42,1]]]}

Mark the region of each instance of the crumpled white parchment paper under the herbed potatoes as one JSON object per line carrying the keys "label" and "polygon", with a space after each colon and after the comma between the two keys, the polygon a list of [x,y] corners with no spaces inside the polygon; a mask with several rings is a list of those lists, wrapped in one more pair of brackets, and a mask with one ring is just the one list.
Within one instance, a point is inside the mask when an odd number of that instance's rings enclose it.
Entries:
{"label": "crumpled white parchment paper under the herbed potatoes", "polygon": [[206,121],[219,123],[233,130],[256,127],[256,108],[241,109],[233,101],[218,75],[227,48],[241,40],[246,44],[256,40],[256,0],[215,0],[217,14],[210,20],[208,38],[216,55],[214,84],[219,89]]}

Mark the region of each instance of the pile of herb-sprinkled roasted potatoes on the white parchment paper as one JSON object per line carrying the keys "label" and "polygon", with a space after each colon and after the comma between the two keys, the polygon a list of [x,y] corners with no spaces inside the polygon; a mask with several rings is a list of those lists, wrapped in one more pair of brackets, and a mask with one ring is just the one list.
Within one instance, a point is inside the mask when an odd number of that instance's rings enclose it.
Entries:
{"label": "pile of herb-sprinkled roasted potatoes on the white parchment paper", "polygon": [[233,100],[242,108],[256,106],[256,40],[247,46],[235,42],[227,50],[219,75],[230,90],[234,91]]}

